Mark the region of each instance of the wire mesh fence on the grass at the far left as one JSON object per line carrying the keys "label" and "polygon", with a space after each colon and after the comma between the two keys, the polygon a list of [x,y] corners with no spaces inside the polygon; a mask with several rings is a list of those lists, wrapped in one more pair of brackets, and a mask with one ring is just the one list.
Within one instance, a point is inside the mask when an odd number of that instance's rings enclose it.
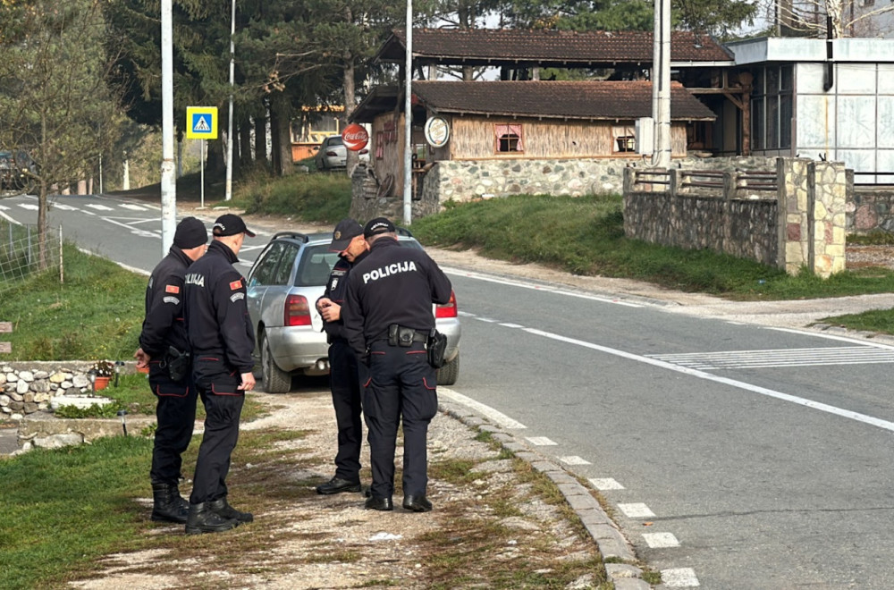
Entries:
{"label": "wire mesh fence on the grass at the far left", "polygon": [[62,227],[49,228],[40,248],[37,225],[19,225],[0,219],[0,292],[11,289],[30,274],[53,270],[62,280]]}

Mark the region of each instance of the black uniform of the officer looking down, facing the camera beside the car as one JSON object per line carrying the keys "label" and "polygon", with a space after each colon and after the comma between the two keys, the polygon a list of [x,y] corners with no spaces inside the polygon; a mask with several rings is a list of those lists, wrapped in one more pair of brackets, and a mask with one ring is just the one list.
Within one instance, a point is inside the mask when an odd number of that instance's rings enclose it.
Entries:
{"label": "black uniform of the officer looking down, facing the camera beside the car", "polygon": [[[339,257],[329,274],[323,297],[342,306],[348,287],[351,268],[367,257],[362,253],[350,263]],[[363,443],[363,426],[360,423],[360,383],[367,379],[367,366],[358,363],[357,355],[350,348],[344,333],[344,320],[326,322],[323,326],[329,343],[329,386],[333,394],[335,424],[338,427],[338,452],[335,455],[335,477],[360,483],[360,445]]]}

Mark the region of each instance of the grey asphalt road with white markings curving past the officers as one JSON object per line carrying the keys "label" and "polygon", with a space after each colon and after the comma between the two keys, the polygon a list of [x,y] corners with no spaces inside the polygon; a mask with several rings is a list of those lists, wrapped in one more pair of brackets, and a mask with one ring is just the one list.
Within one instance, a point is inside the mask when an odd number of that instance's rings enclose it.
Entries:
{"label": "grey asphalt road with white markings curving past the officers", "polygon": [[[0,215],[33,223],[22,204]],[[157,209],[124,205],[59,198],[51,221],[148,270]],[[600,489],[666,586],[894,587],[894,346],[449,271],[463,341],[443,395]]]}

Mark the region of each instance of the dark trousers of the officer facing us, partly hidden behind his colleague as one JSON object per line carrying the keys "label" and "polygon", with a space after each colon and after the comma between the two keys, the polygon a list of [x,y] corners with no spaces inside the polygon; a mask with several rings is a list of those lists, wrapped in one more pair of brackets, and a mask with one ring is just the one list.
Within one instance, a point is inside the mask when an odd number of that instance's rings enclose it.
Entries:
{"label": "dark trousers of the officer facing us, partly hidden behind his colleague", "polygon": [[341,338],[329,345],[329,386],[333,392],[335,424],[338,426],[338,452],[335,476],[350,482],[360,481],[360,445],[363,426],[360,421],[360,383],[366,381],[367,367],[357,362],[348,341]]}

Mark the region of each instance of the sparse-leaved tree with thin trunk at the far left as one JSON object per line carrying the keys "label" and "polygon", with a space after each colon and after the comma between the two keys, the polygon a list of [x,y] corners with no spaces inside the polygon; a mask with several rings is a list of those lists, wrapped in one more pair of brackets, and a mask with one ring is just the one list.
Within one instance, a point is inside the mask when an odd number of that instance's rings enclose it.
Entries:
{"label": "sparse-leaved tree with thin trunk at the far left", "polygon": [[[119,116],[106,84],[99,0],[37,0],[13,38],[0,41],[0,145],[28,151],[38,186],[38,240],[46,266],[48,197],[88,178],[112,144]],[[0,11],[5,4],[0,4]]]}

